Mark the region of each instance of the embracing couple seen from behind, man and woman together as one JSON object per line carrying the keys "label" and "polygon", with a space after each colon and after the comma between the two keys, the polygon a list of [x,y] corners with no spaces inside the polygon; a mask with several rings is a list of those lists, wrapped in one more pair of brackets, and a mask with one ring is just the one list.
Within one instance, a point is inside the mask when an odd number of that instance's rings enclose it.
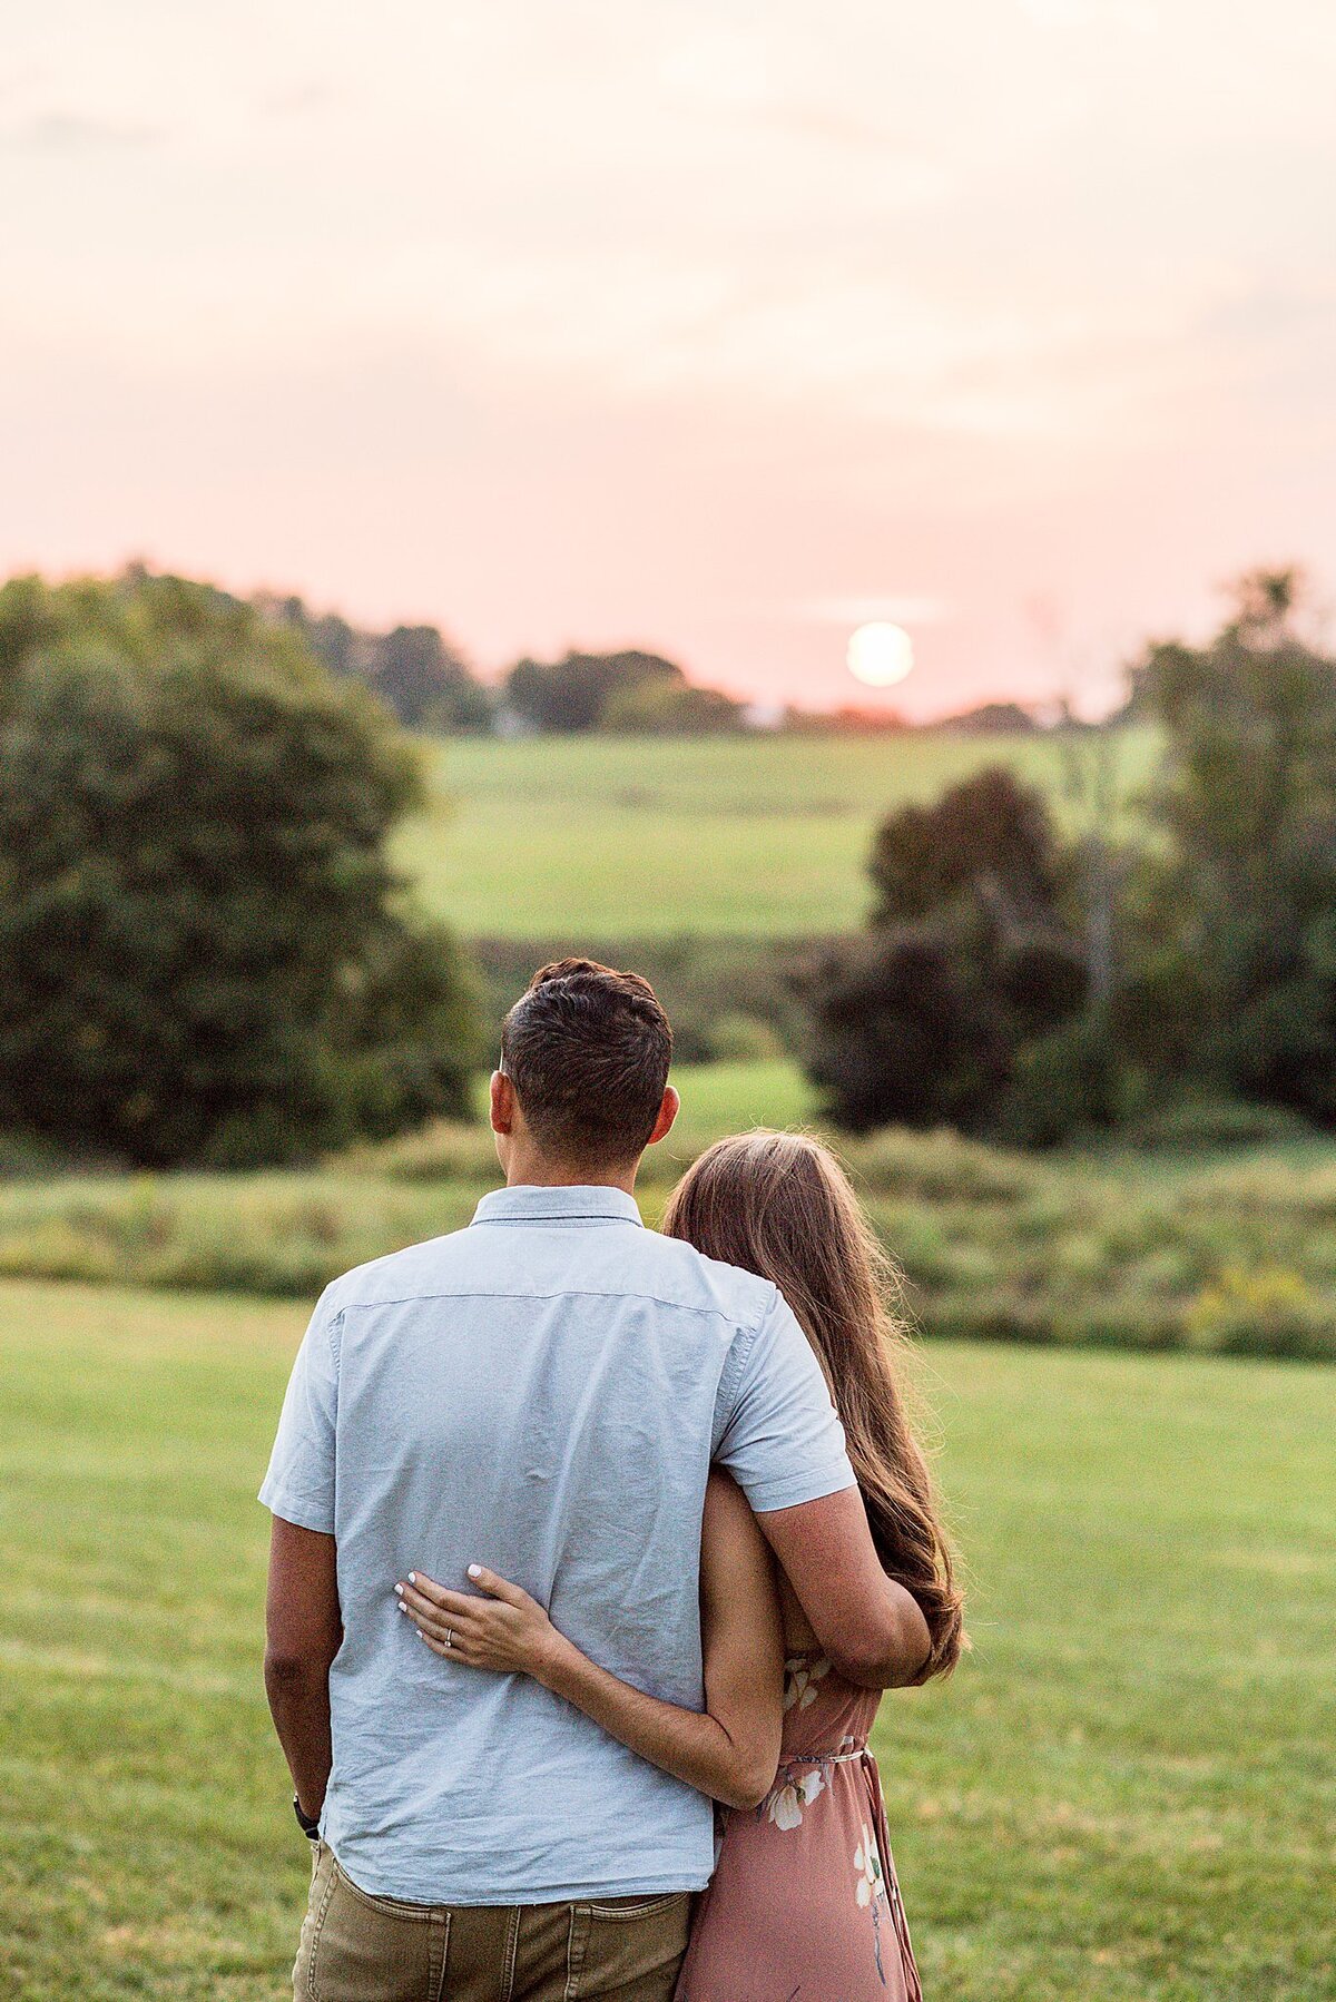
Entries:
{"label": "embracing couple seen from behind, man and woman together", "polygon": [[633,973],[511,1009],[473,1223],[335,1281],[260,1499],[304,2002],[915,2002],[867,1734],[961,1604],[875,1241],[749,1133],[661,1231]]}

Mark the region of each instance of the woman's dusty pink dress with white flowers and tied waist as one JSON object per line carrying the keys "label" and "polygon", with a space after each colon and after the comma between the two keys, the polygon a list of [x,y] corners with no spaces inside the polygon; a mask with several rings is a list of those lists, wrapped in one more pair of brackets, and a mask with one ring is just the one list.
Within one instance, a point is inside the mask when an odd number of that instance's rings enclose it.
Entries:
{"label": "woman's dusty pink dress with white flowers and tied waist", "polygon": [[923,2002],[867,1734],[877,1692],[785,1662],[779,1772],[723,1812],[677,2002]]}

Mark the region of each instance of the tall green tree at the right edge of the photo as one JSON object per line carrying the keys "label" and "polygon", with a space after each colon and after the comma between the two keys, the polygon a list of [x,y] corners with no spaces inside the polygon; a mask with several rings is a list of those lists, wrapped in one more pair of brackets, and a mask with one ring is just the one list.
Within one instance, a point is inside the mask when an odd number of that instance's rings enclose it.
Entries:
{"label": "tall green tree at the right edge of the photo", "polygon": [[1254,571],[1206,647],[1152,645],[1134,703],[1164,729],[1122,1033],[1158,1071],[1336,1123],[1336,661],[1298,571]]}

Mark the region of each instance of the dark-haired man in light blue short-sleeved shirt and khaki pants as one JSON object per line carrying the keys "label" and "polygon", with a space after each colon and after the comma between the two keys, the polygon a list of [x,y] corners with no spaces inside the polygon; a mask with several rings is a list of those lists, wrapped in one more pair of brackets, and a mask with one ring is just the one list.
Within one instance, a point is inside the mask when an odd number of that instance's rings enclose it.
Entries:
{"label": "dark-haired man in light blue short-sleeved shirt and khaki pants", "polygon": [[791,1311],[641,1225],[669,1057],[637,975],[537,973],[491,1083],[507,1187],[335,1281],[302,1341],[260,1489],[264,1680],[318,1838],[298,1996],[667,2002],[711,1872],[709,1802],[541,1684],[437,1660],[397,1618],[409,1566],[501,1572],[613,1674],[703,1708],[717,1461],[845,1674],[889,1686],[927,1656]]}

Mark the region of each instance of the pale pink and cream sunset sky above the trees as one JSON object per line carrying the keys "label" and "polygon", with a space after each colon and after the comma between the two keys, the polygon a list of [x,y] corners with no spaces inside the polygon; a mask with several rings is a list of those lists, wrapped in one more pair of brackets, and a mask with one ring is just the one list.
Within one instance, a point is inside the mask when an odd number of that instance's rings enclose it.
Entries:
{"label": "pale pink and cream sunset sky above the trees", "polygon": [[1332,0],[0,20],[0,575],[917,717],[1336,597]]}

